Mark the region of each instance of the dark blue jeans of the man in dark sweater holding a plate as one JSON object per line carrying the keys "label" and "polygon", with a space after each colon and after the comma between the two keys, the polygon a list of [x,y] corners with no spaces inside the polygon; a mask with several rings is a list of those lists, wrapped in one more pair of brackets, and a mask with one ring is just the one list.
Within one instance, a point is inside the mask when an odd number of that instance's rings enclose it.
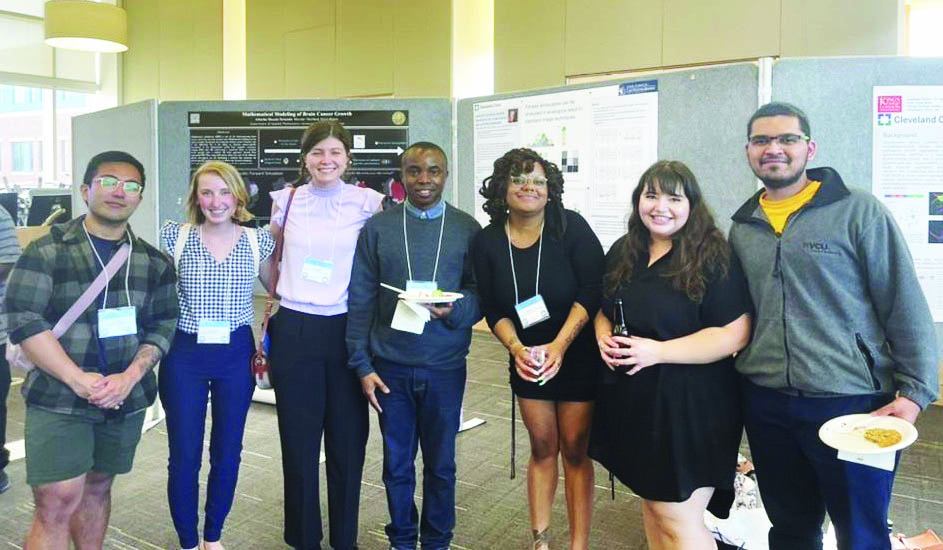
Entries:
{"label": "dark blue jeans of the man in dark sweater holding a plate", "polygon": [[[377,392],[383,413],[383,484],[390,510],[386,535],[397,550],[449,547],[455,528],[455,437],[465,366],[448,370],[376,360],[390,393]],[[416,451],[422,447],[422,519],[413,500]]]}

